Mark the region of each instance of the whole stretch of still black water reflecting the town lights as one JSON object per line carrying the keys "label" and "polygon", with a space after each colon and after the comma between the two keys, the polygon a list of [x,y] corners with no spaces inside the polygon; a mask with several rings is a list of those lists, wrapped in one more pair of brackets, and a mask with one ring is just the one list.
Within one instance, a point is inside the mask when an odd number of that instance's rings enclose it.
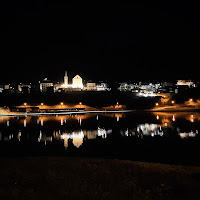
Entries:
{"label": "whole stretch of still black water reflecting the town lights", "polygon": [[1,156],[199,163],[200,113],[0,117]]}

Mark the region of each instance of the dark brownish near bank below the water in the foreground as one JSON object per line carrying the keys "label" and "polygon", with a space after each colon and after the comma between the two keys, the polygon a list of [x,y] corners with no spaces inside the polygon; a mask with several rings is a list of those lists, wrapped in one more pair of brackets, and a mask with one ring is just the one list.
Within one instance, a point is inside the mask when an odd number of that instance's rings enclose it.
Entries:
{"label": "dark brownish near bank below the water in the foreground", "polygon": [[200,167],[111,159],[0,158],[0,199],[199,199]]}

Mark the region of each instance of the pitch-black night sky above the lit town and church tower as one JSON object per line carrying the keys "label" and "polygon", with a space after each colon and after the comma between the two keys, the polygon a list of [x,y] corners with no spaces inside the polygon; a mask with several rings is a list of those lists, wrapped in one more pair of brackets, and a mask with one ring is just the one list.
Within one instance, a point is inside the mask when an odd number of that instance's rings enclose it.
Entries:
{"label": "pitch-black night sky above the lit town and church tower", "polygon": [[0,82],[200,79],[196,1],[55,2],[0,3]]}

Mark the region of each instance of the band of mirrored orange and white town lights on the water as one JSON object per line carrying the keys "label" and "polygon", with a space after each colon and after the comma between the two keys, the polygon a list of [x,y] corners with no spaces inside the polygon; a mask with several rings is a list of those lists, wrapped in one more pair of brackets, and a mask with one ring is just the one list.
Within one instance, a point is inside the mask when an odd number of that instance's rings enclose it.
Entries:
{"label": "band of mirrored orange and white town lights on the water", "polygon": [[68,149],[70,142],[79,148],[87,140],[106,140],[117,133],[122,137],[167,137],[169,129],[186,139],[198,135],[199,121],[200,113],[181,112],[0,117],[0,140],[61,142]]}

